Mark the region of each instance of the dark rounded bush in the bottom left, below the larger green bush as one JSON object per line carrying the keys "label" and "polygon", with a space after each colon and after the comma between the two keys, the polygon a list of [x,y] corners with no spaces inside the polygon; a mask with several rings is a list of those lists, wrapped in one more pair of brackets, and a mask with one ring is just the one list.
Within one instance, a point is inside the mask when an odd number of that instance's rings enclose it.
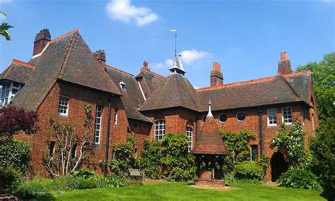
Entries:
{"label": "dark rounded bush in the bottom left, below the larger green bush", "polygon": [[0,167],[0,194],[9,193],[20,183],[20,173],[12,167]]}

